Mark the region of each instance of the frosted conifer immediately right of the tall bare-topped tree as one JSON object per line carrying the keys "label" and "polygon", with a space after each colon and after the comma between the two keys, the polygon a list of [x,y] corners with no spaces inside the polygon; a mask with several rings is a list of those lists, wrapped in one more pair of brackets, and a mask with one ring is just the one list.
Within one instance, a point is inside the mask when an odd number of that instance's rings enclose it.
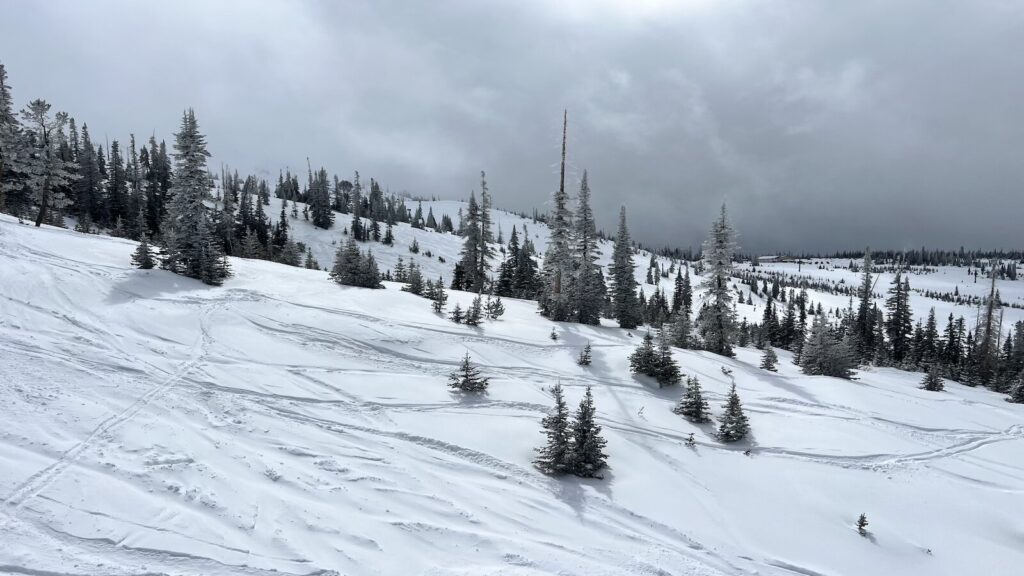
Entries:
{"label": "frosted conifer immediately right of the tall bare-topped tree", "polygon": [[581,324],[597,325],[601,322],[604,307],[605,288],[601,282],[597,264],[597,227],[594,211],[590,207],[590,186],[587,171],[583,172],[580,195],[577,197],[575,234],[573,235],[572,258],[575,275],[572,279],[575,320]]}

